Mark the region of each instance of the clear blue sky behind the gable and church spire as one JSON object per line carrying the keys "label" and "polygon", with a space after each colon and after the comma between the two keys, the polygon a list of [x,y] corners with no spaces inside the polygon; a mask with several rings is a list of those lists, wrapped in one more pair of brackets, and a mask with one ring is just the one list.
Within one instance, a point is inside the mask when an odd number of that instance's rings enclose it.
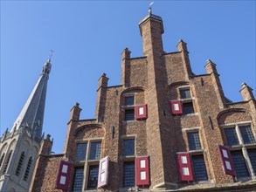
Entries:
{"label": "clear blue sky behind the gable and church spire", "polygon": [[[138,27],[150,1],[1,1],[1,133],[12,127],[50,50],[52,72],[45,105],[45,134],[62,153],[75,102],[80,119],[93,119],[98,79],[120,85],[121,51],[142,56]],[[241,101],[241,83],[255,94],[255,1],[155,1],[163,18],[163,47],[177,51],[182,38],[192,71],[217,64],[225,96]]]}

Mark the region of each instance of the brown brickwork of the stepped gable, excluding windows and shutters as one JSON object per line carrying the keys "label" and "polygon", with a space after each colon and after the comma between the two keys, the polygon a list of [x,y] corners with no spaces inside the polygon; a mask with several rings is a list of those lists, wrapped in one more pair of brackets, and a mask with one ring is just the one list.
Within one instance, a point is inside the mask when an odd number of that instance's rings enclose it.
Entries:
{"label": "brown brickwork of the stepped gable, excluding windows and shutters", "polygon": [[[223,125],[241,121],[251,122],[256,136],[256,110],[252,89],[245,84],[241,94],[245,101],[229,103],[225,99],[216,65],[207,61],[206,74],[195,75],[190,68],[187,45],[180,40],[177,51],[163,51],[163,21],[160,17],[149,15],[140,23],[142,35],[142,58],[131,58],[131,51],[126,48],[121,54],[121,86],[107,86],[107,75],[99,79],[95,119],[80,120],[79,104],[73,106],[67,127],[66,143],[63,156],[42,156],[38,163],[41,175],[35,189],[52,189],[54,182],[49,182],[52,166],[61,158],[74,162],[74,168],[82,164],[85,178],[88,166],[99,161],[75,162],[77,143],[101,141],[101,157],[109,156],[108,184],[99,191],[122,191],[123,164],[135,161],[135,156],[126,158],[123,154],[123,141],[135,138],[135,155],[149,155],[150,186],[152,189],[246,189],[249,185],[235,183],[232,176],[225,175],[218,145],[225,145]],[[170,100],[181,100],[180,88],[189,87],[194,113],[173,115]],[[133,95],[135,105],[146,104],[147,120],[125,120],[125,97]],[[190,151],[188,133],[198,131],[202,149]],[[255,147],[255,146],[253,146]],[[198,184],[180,182],[176,163],[177,152],[190,155],[201,154],[208,175],[208,181]],[[54,170],[54,168],[52,169]],[[35,181],[37,180],[34,178]],[[253,180],[255,182],[255,180]],[[70,186],[72,186],[73,179]],[[218,186],[218,187],[217,187]],[[219,187],[220,186],[220,187]],[[245,187],[246,186],[246,187]],[[86,188],[86,187],[85,187]],[[130,189],[135,190],[135,189]]]}

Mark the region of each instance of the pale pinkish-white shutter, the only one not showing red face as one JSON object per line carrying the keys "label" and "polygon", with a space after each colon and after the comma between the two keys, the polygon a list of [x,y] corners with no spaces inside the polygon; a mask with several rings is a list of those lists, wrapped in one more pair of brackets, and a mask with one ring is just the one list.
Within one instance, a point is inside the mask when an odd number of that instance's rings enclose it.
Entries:
{"label": "pale pinkish-white shutter, the only one not showing red face", "polygon": [[100,160],[100,168],[99,168],[99,175],[98,175],[98,188],[107,185],[107,178],[108,178],[108,164],[109,164],[109,157],[104,157]]}

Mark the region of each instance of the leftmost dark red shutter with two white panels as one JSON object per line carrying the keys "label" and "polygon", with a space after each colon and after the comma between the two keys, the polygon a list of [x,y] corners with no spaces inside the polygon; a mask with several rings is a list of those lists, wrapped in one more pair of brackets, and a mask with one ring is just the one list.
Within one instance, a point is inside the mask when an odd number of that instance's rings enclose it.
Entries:
{"label": "leftmost dark red shutter with two white panels", "polygon": [[68,184],[70,182],[71,170],[73,164],[67,161],[60,161],[59,173],[56,180],[56,189],[68,190]]}

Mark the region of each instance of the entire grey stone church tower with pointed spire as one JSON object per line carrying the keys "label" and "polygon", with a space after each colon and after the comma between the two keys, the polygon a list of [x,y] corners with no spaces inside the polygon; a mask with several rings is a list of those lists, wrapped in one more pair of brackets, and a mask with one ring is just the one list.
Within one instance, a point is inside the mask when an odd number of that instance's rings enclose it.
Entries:
{"label": "entire grey stone church tower with pointed spire", "polygon": [[0,138],[0,191],[28,191],[40,148],[51,58],[10,132]]}

